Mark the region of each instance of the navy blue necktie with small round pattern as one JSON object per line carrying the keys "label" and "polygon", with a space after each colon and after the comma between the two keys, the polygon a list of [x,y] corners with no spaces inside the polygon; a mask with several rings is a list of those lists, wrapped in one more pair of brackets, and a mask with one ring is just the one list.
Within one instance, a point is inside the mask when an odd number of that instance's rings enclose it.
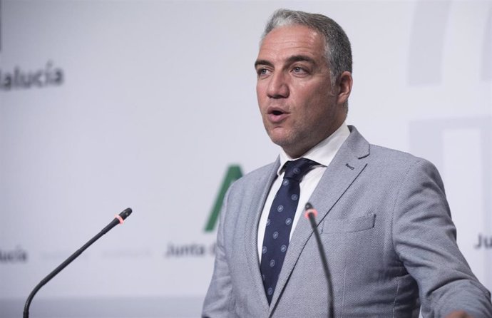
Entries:
{"label": "navy blue necktie with small round pattern", "polygon": [[269,304],[272,302],[273,292],[289,247],[290,230],[299,201],[299,183],[302,177],[317,164],[306,158],[287,162],[284,180],[270,207],[260,264]]}

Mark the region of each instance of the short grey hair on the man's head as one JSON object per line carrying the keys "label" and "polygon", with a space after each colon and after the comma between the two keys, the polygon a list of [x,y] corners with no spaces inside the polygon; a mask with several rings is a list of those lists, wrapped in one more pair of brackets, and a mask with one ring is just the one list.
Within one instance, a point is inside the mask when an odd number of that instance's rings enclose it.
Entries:
{"label": "short grey hair on the man's head", "polygon": [[262,35],[262,41],[273,29],[292,25],[307,26],[323,34],[326,43],[325,57],[332,78],[332,86],[344,71],[352,73],[352,48],[350,48],[347,34],[337,22],[322,14],[278,9],[270,16]]}

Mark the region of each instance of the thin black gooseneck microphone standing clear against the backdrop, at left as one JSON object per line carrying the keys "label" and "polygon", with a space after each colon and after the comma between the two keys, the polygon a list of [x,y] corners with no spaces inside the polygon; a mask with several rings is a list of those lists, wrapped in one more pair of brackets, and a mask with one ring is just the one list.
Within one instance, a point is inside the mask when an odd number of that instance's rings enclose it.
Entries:
{"label": "thin black gooseneck microphone standing clear against the backdrop, at left", "polygon": [[31,306],[32,299],[34,298],[36,292],[38,292],[39,289],[41,289],[41,287],[44,286],[44,284],[49,282],[53,277],[55,277],[59,272],[61,272],[63,268],[65,268],[68,264],[70,264],[73,260],[75,260],[78,256],[80,256],[82,252],[87,249],[87,247],[91,246],[93,242],[99,240],[99,238],[105,235],[106,232],[108,232],[118,224],[123,224],[123,221],[131,214],[131,212],[132,210],[130,209],[130,207],[127,207],[119,215],[115,215],[114,220],[111,221],[111,223],[109,223],[106,227],[104,227],[103,230],[101,230],[101,232],[98,232],[98,234],[95,237],[91,238],[91,240],[86,242],[86,244],[83,245],[83,247],[81,247],[80,249],[78,249],[77,252],[73,253],[70,257],[68,257],[65,260],[65,262],[58,265],[58,267],[56,267],[55,270],[53,270],[53,272],[49,273],[48,276],[44,277],[43,280],[41,280],[41,282],[39,282],[39,284],[37,284],[36,287],[34,287],[31,294],[29,294],[29,297],[27,297],[26,304],[24,305],[24,318],[29,318],[29,306]]}

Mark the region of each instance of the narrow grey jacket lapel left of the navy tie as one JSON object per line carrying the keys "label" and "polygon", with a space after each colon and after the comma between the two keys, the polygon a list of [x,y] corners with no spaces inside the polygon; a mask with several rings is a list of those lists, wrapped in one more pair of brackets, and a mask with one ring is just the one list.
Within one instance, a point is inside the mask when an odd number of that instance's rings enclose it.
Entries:
{"label": "narrow grey jacket lapel left of the navy tie", "polygon": [[265,295],[265,289],[263,287],[262,275],[260,272],[260,260],[258,258],[257,249],[257,236],[258,236],[258,223],[260,222],[260,216],[262,214],[263,206],[267,200],[267,195],[270,192],[270,187],[273,181],[277,177],[277,170],[280,166],[280,160],[277,159],[275,164],[265,177],[260,178],[256,183],[255,194],[250,205],[250,209],[247,211],[247,224],[245,227],[245,251],[247,259],[247,267],[250,270],[250,277],[252,279],[253,286],[255,288],[255,294],[259,295],[260,304],[264,309],[262,312],[268,311],[268,302]]}

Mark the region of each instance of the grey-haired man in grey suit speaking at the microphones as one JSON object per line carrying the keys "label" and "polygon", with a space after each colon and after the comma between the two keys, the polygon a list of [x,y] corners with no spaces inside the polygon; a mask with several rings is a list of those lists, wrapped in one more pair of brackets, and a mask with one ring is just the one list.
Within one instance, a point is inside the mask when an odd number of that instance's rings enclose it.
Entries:
{"label": "grey-haired man in grey suit speaking at the microphones", "polygon": [[[340,26],[277,11],[255,68],[263,123],[282,150],[225,197],[203,317],[492,317],[434,165],[344,123],[352,53]],[[319,212],[328,277],[300,217],[306,202]]]}

